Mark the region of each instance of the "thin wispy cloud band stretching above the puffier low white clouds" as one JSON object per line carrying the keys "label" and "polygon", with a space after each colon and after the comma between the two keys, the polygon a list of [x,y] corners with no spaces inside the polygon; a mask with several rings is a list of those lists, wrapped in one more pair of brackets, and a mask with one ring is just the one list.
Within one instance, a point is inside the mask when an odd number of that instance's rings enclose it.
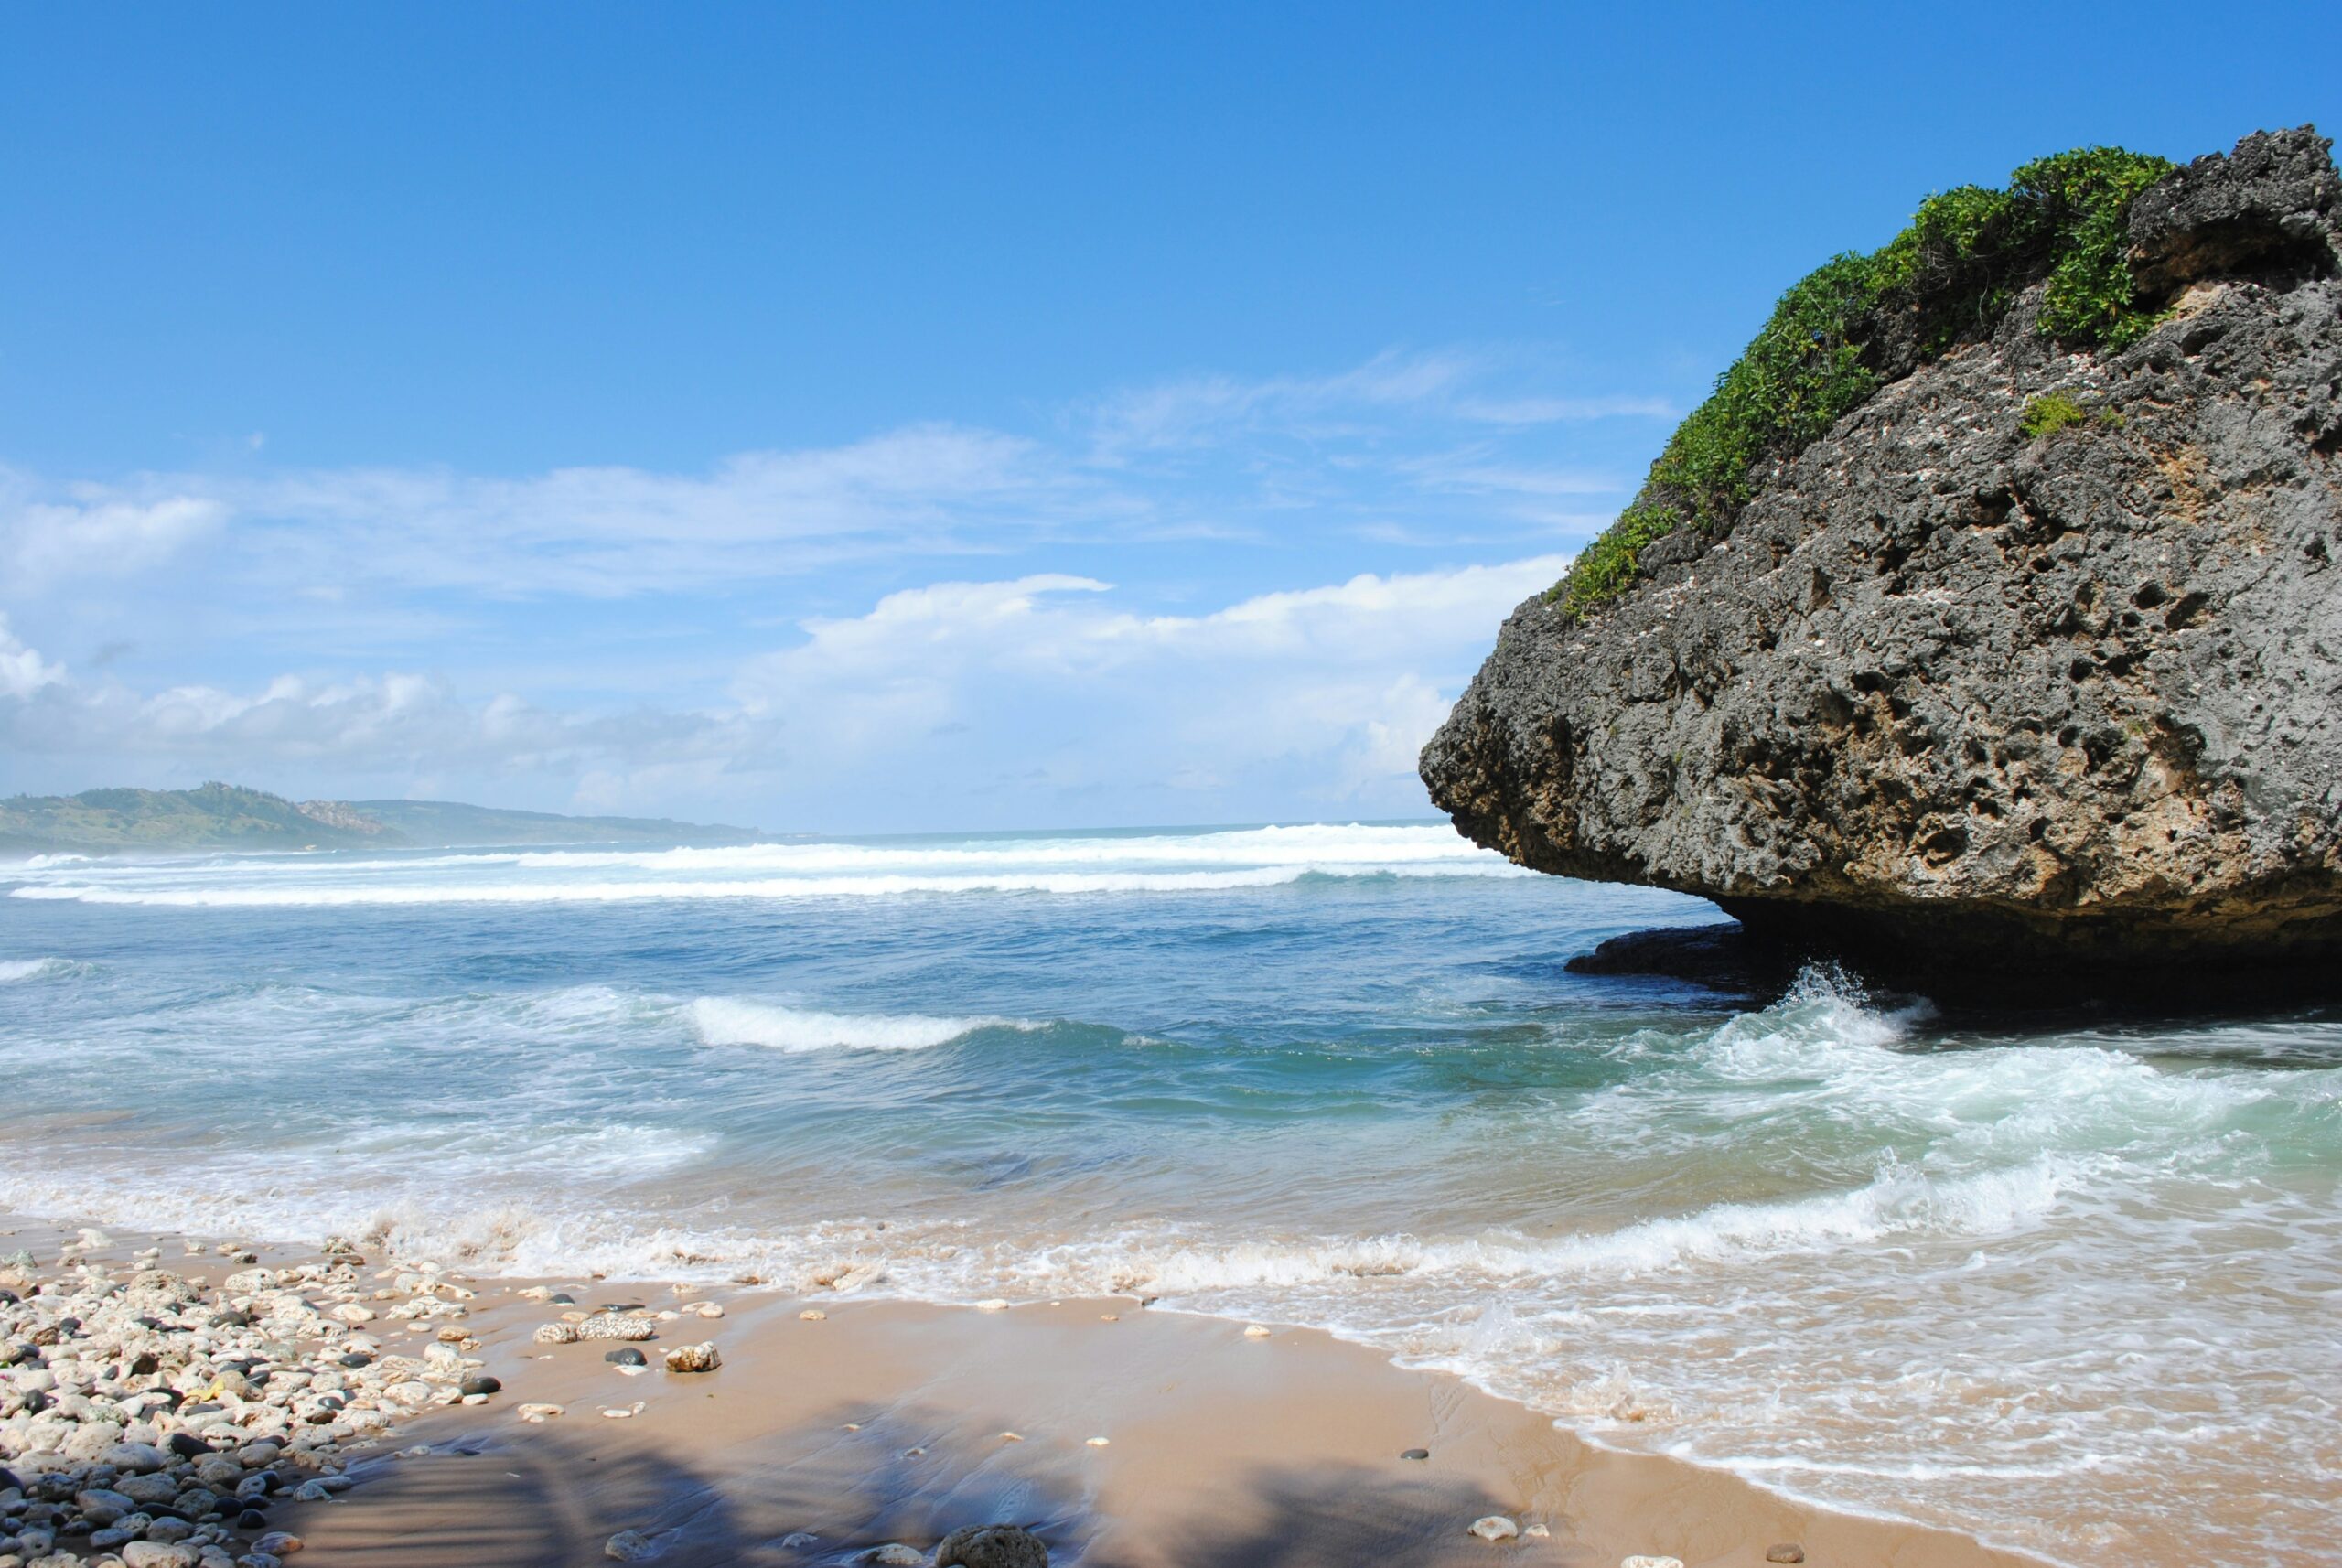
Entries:
{"label": "thin wispy cloud band stretching above the puffier low white clouds", "polygon": [[[1480,351],[1379,353],[1330,374],[1199,374],[1063,410],[1035,435],[923,424],[838,447],[745,452],[703,473],[447,468],[143,473],[42,482],[0,470],[0,559],[26,585],[131,578],[194,545],[276,594],[351,585],[513,597],[679,594],[874,559],[1045,543],[1288,538],[1408,529],[1480,494],[1600,494],[1607,466],[1520,445],[1562,421],[1660,417],[1635,396],[1508,391]],[[1522,513],[1511,513],[1515,520]],[[1534,517],[1532,517],[1534,520]],[[1415,517],[1415,529],[1433,522]]]}

